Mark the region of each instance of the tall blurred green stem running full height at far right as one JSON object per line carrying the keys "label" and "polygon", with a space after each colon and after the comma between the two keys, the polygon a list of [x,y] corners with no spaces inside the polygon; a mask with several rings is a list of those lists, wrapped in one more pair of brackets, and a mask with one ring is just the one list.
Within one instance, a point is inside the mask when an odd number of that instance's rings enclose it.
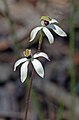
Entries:
{"label": "tall blurred green stem running full height at far right", "polygon": [[70,17],[70,55],[71,55],[71,68],[70,68],[70,77],[71,77],[71,113],[70,113],[70,120],[75,120],[75,103],[76,103],[76,92],[75,92],[75,85],[76,85],[76,75],[75,75],[75,63],[74,63],[74,55],[75,55],[75,0],[71,0],[72,3],[72,14]]}

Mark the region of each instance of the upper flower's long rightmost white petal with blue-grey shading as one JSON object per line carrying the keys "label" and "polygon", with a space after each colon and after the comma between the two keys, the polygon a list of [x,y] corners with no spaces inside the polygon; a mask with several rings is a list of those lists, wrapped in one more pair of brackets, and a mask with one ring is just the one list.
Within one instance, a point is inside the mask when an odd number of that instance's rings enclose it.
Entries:
{"label": "upper flower's long rightmost white petal with blue-grey shading", "polygon": [[59,36],[62,36],[62,37],[67,36],[67,34],[60,27],[58,27],[55,24],[49,25],[48,28],[52,29]]}

